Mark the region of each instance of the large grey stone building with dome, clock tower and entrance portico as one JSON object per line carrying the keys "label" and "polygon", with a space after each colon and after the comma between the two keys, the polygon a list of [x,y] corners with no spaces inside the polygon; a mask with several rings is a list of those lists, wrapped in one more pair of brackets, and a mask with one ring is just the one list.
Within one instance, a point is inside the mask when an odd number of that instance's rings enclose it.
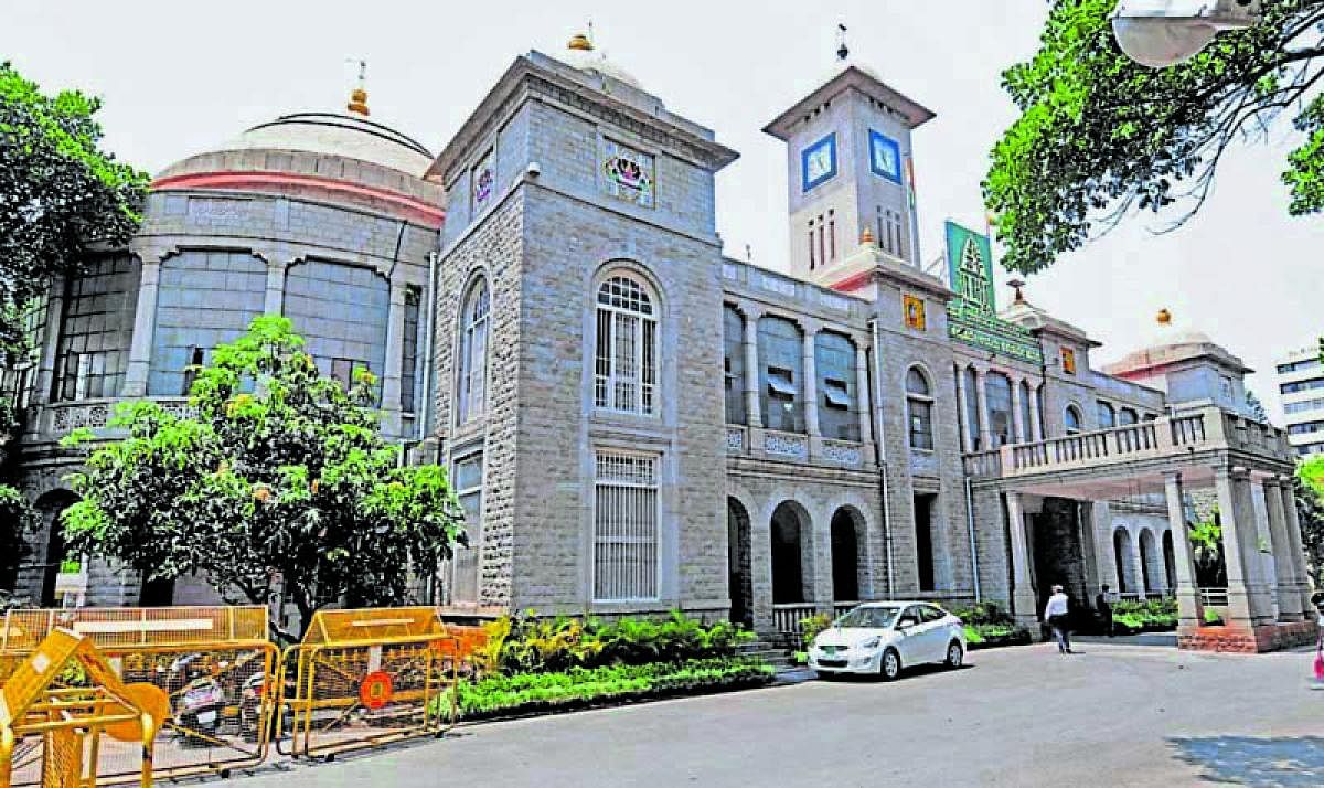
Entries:
{"label": "large grey stone building with dome, clock tower and entrance portico", "polygon": [[[953,224],[945,265],[922,265],[931,118],[845,66],[764,127],[786,144],[788,273],[722,254],[714,176],[736,152],[583,37],[515,58],[436,158],[363,118],[283,118],[167,170],[139,240],[89,278],[120,294],[122,377],[98,399],[177,397],[181,360],[241,323],[200,336],[176,307],[283,311],[340,342],[314,351],[327,371],[384,369],[388,429],[451,468],[471,544],[440,583],[455,616],[679,608],[790,632],[925,597],[1029,622],[1061,583],[1082,608],[1102,584],[1176,593],[1185,645],[1313,637],[1292,458],[1246,412],[1249,369],[1168,324],[1100,368],[1019,286],[1000,310],[988,238]],[[224,294],[197,299],[172,261]],[[34,498],[68,462],[50,440],[105,408],[61,360],[71,298],[50,301],[32,387]],[[1204,489],[1226,588],[1194,585]]]}

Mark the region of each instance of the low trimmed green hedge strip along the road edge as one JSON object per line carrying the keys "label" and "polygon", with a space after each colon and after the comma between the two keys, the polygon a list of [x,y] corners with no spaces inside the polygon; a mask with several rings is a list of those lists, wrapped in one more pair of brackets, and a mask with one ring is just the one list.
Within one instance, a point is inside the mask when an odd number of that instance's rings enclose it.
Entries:
{"label": "low trimmed green hedge strip along the road edge", "polygon": [[[458,685],[459,718],[548,713],[597,703],[760,686],[771,682],[773,673],[773,667],[761,660],[722,657],[494,675]],[[450,716],[451,691],[445,690],[433,702],[434,714]]]}

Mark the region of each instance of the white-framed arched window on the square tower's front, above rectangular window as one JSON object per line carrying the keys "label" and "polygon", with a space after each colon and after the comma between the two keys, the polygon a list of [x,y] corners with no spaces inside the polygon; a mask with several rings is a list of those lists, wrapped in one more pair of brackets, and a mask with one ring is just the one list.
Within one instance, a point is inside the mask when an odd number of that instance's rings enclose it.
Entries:
{"label": "white-framed arched window on the square tower's front, above rectangular window", "polygon": [[657,310],[645,286],[617,274],[597,290],[593,404],[621,413],[657,412]]}

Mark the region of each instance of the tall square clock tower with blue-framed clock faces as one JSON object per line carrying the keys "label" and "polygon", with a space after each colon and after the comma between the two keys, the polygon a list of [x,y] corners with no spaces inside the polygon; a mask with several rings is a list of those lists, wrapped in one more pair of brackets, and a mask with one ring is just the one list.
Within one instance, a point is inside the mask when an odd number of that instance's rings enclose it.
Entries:
{"label": "tall square clock tower with blue-framed clock faces", "polygon": [[764,131],[786,143],[790,271],[853,290],[862,240],[919,264],[911,131],[933,113],[849,65]]}

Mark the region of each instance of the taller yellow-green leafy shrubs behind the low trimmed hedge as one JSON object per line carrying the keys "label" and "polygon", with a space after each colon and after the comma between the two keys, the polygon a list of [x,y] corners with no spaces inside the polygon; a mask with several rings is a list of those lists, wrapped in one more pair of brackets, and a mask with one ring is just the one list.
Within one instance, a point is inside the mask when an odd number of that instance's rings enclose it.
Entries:
{"label": "taller yellow-green leafy shrubs behind the low trimmed hedge", "polygon": [[495,656],[496,670],[506,675],[733,657],[755,637],[728,621],[704,625],[678,611],[661,621],[610,622],[539,618],[530,611],[510,618],[508,628]]}

